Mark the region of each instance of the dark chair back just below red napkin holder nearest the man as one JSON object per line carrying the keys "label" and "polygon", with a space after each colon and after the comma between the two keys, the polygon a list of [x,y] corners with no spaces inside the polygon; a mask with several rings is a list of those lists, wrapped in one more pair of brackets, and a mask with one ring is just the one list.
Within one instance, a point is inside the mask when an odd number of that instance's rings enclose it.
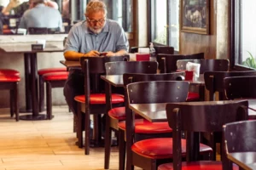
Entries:
{"label": "dark chair back just below red napkin holder nearest the man", "polygon": [[105,63],[107,75],[123,75],[125,73],[157,73],[156,61],[119,61]]}

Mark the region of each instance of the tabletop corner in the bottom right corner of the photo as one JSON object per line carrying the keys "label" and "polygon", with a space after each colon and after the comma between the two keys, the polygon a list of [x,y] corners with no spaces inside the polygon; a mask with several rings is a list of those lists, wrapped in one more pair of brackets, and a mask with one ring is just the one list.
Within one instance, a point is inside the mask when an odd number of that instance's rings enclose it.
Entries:
{"label": "tabletop corner in the bottom right corner of the photo", "polygon": [[243,169],[256,169],[256,152],[234,152],[229,153],[228,158]]}

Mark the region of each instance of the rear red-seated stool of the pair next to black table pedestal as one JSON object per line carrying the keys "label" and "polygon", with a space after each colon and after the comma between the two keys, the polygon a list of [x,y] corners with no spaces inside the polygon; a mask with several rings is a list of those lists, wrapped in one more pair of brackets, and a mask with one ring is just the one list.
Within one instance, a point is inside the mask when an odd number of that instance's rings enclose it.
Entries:
{"label": "rear red-seated stool of the pair next to black table pedestal", "polygon": [[39,76],[39,112],[44,111],[44,81],[43,75],[50,72],[59,72],[59,71],[67,71],[66,67],[61,68],[46,68],[38,70]]}

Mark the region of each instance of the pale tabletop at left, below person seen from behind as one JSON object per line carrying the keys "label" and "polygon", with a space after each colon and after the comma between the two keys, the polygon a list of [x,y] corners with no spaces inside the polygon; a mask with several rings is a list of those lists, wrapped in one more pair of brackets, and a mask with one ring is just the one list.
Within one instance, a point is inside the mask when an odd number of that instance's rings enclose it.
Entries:
{"label": "pale tabletop at left, below person seen from behind", "polygon": [[63,52],[63,48],[57,47],[46,42],[43,50],[32,50],[33,42],[17,42],[17,43],[2,43],[0,48],[6,53],[43,53],[43,52]]}

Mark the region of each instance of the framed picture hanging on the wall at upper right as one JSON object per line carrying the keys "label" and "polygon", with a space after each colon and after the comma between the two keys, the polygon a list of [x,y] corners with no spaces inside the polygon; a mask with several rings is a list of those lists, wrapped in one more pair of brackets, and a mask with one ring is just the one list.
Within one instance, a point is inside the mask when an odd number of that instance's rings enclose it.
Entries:
{"label": "framed picture hanging on the wall at upper right", "polygon": [[209,34],[209,1],[181,0],[180,29],[182,32]]}

